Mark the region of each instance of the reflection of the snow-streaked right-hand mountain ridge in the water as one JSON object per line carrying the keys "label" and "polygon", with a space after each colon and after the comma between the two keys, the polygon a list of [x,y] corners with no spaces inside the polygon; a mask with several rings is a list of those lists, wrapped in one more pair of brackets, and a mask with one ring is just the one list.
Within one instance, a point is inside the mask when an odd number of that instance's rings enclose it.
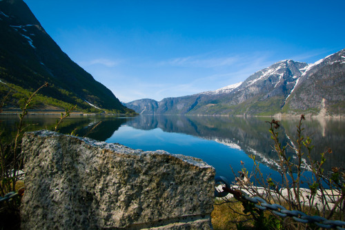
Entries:
{"label": "reflection of the snow-streaked right-hand mountain ridge in the water", "polygon": [[[228,117],[228,116],[139,116],[126,125],[136,129],[160,128],[164,132],[183,133],[242,149],[247,155],[254,154],[257,160],[275,169],[272,159],[277,159],[273,151],[273,140],[268,132],[271,121],[268,117]],[[279,140],[282,145],[297,145],[298,118],[284,119],[279,128]],[[333,150],[327,157],[326,169],[344,167],[345,163],[345,123],[337,119],[311,119],[303,121],[303,135],[312,139],[315,146],[313,155],[319,159],[319,153],[327,148]],[[295,152],[287,148],[294,158]]]}

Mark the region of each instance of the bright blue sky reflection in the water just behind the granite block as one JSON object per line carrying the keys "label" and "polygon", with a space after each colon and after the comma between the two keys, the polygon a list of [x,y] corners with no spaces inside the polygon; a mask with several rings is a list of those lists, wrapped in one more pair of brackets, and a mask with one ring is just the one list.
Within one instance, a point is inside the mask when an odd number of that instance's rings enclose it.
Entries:
{"label": "bright blue sky reflection in the water just behind the granite block", "polygon": [[[233,149],[214,140],[205,140],[187,134],[163,132],[159,128],[143,130],[123,125],[106,142],[120,143],[144,151],[163,149],[171,154],[201,158],[215,167],[217,175],[226,176],[230,181],[234,179],[230,165],[235,173],[242,169],[241,160],[248,170],[253,169],[253,160],[240,149]],[[261,168],[264,174],[272,174],[274,179],[279,180],[275,171],[264,165]]]}

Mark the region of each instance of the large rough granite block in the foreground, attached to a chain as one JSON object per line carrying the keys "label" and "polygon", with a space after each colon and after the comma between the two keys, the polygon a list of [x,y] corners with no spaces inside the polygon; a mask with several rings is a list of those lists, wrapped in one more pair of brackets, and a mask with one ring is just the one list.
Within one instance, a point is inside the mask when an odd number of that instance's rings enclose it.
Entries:
{"label": "large rough granite block in the foreground, attached to a chain", "polygon": [[26,133],[22,229],[212,229],[215,169],[49,131]]}

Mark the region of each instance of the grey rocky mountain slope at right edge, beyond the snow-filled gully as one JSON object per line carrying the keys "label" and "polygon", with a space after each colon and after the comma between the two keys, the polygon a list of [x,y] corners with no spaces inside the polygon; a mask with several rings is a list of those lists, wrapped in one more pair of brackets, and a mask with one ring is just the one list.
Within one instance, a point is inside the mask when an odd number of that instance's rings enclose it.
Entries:
{"label": "grey rocky mountain slope at right edge, beyond the snow-filled gully", "polygon": [[308,65],[283,111],[345,114],[345,49]]}

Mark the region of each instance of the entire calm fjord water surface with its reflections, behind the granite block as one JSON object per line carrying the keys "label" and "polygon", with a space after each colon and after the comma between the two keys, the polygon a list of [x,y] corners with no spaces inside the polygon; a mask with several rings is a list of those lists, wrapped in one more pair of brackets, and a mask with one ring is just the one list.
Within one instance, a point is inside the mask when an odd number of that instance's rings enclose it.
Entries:
{"label": "entire calm fjord water surface with its reflections, behind the granite block", "polygon": [[[28,131],[53,130],[58,116],[28,116]],[[268,132],[268,117],[228,116],[71,116],[59,127],[59,132],[77,136],[87,135],[108,143],[119,143],[133,149],[151,151],[163,149],[171,154],[194,156],[206,161],[216,169],[219,176],[234,179],[242,167],[253,169],[255,155],[264,174],[279,180],[273,151],[273,140]],[[15,132],[17,116],[0,116],[4,138]],[[279,140],[283,145],[295,145],[298,118],[283,119],[279,128]],[[313,158],[330,147],[326,154],[326,170],[345,166],[345,122],[341,119],[311,119],[303,122],[304,136],[313,140]],[[294,151],[288,151],[292,160]],[[232,169],[233,168],[233,171]]]}

